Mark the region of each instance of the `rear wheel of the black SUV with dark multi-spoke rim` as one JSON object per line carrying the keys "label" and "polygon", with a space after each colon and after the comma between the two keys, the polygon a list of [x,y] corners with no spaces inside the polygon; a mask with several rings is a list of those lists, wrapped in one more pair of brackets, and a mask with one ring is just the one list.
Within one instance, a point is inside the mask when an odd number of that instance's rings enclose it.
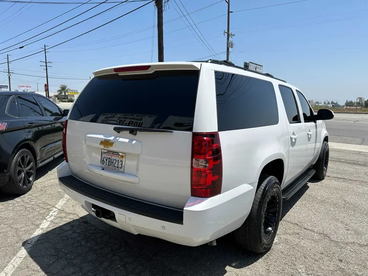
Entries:
{"label": "rear wheel of the black SUV with dark multi-spoke rim", "polygon": [[27,149],[19,150],[11,163],[10,177],[0,189],[7,194],[24,195],[33,186],[36,177],[36,163],[32,153]]}

